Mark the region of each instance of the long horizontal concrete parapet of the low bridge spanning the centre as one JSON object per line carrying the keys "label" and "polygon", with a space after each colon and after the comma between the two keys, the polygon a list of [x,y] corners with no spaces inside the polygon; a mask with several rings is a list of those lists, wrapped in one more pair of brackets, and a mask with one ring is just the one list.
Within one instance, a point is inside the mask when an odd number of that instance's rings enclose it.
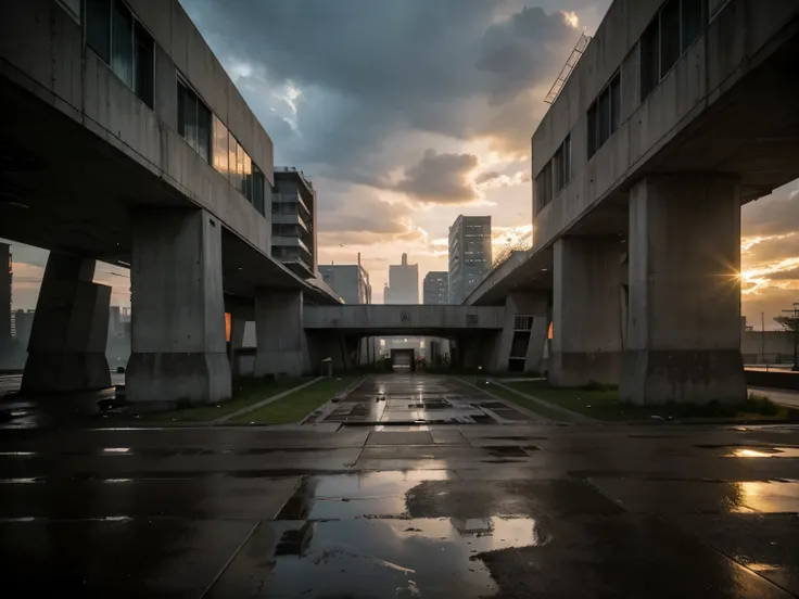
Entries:
{"label": "long horizontal concrete parapet of the low bridge spanning the centre", "polygon": [[[477,317],[472,320],[471,317]],[[363,305],[306,306],[305,329],[371,330],[372,334],[414,334],[442,329],[502,329],[505,307]],[[417,333],[419,334],[419,333]]]}

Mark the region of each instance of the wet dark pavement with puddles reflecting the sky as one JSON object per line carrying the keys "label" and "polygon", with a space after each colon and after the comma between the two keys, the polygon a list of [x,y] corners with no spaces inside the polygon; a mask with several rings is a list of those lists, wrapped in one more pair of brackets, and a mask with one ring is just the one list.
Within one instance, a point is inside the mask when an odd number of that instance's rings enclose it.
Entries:
{"label": "wet dark pavement with puddles reflecting the sky", "polygon": [[[380,385],[395,419],[324,418]],[[0,429],[3,597],[799,595],[798,428],[492,402],[397,375],[309,425]]]}

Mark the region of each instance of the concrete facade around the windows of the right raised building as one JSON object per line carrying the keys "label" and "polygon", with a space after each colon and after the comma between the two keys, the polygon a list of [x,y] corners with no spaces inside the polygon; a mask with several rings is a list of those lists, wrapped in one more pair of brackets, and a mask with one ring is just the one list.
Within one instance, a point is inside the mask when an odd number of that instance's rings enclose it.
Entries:
{"label": "concrete facade around the windows of the right raised building", "polygon": [[[637,42],[662,4],[663,0],[616,0],[536,129],[533,178],[570,132],[573,177],[534,216],[535,247],[573,225],[708,112],[758,64],[759,53],[771,51],[771,39],[799,10],[795,2],[732,0],[642,103]],[[587,111],[617,69],[621,72],[622,123],[588,160]],[[708,160],[715,160],[712,152],[708,154]]]}

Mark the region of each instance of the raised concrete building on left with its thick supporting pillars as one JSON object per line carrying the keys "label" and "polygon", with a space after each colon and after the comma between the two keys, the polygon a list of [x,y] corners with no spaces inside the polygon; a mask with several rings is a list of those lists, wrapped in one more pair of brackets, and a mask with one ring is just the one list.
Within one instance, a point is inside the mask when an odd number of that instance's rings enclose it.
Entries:
{"label": "raised concrete building on left with its thick supporting pillars", "polygon": [[102,259],[130,267],[127,397],[225,399],[226,304],[338,301],[270,257],[271,140],[179,2],[84,4],[0,8],[0,237],[51,251],[23,388],[110,385]]}

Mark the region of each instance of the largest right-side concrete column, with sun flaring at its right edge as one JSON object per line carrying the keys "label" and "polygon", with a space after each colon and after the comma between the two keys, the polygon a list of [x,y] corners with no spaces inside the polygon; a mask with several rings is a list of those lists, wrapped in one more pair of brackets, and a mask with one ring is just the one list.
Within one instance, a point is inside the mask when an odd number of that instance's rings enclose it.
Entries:
{"label": "largest right-side concrete column, with sun flaring at its right edge", "polygon": [[623,399],[746,398],[739,270],[735,180],[663,176],[633,187]]}

